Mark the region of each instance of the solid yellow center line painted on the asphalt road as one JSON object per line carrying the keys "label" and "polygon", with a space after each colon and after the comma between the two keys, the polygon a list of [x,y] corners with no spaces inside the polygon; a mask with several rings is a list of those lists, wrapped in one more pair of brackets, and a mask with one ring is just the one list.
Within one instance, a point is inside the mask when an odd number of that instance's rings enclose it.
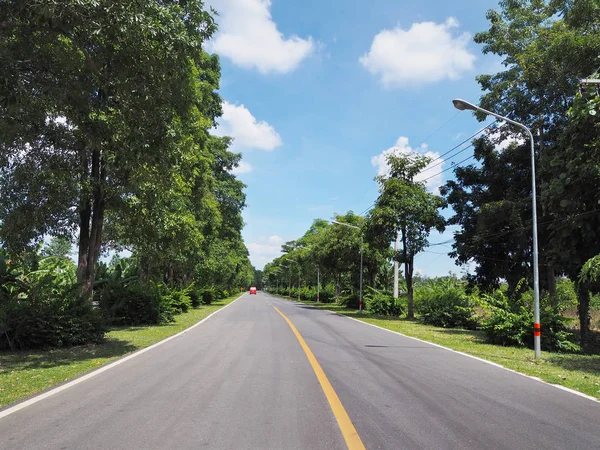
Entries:
{"label": "solid yellow center line painted on the asphalt road", "polygon": [[321,384],[321,388],[323,389],[323,392],[325,393],[325,397],[327,397],[329,406],[331,406],[331,410],[333,411],[333,415],[335,416],[335,419],[338,422],[338,426],[340,427],[342,436],[344,436],[344,440],[346,441],[346,445],[348,446],[348,449],[349,450],[361,450],[361,449],[364,450],[365,446],[363,445],[362,440],[360,439],[360,436],[358,435],[358,433],[356,431],[356,428],[354,428],[354,424],[350,420],[350,417],[348,416],[348,413],[344,409],[344,405],[342,405],[340,398],[337,396],[335,390],[333,389],[333,386],[327,379],[325,372],[323,372],[323,369],[321,368],[319,361],[317,361],[317,358],[315,358],[315,355],[313,355],[313,352],[308,347],[308,345],[304,341],[304,338],[298,332],[298,330],[296,329],[294,324],[291,322],[291,320],[288,319],[286,317],[286,315],[283,314],[277,307],[274,306],[273,308],[275,308],[275,311],[277,311],[279,314],[281,314],[281,317],[283,317],[285,319],[285,321],[288,323],[288,325],[290,326],[290,328],[296,335],[298,342],[300,342],[300,346],[304,350],[304,353],[306,353],[308,362],[310,362],[310,365],[312,366],[313,370],[315,371],[315,375],[317,376],[317,379],[319,380],[319,383]]}

